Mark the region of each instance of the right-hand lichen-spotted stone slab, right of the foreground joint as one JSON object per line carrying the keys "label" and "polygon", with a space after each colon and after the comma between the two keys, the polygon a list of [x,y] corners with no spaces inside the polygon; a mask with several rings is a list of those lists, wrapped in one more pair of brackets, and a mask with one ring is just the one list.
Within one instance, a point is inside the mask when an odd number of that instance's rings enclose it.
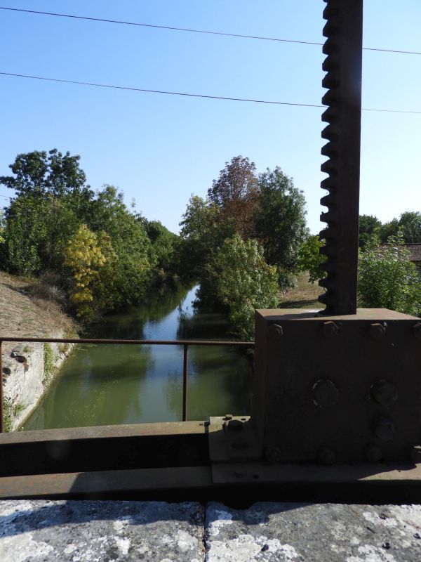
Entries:
{"label": "right-hand lichen-spotted stone slab, right of the foreground joint", "polygon": [[420,562],[421,506],[211,503],[206,551],[207,562]]}

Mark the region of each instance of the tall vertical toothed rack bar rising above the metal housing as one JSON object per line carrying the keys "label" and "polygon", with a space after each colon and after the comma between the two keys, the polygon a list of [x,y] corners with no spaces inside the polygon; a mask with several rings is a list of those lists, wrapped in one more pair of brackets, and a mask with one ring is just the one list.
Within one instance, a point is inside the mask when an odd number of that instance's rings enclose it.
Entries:
{"label": "tall vertical toothed rack bar rising above the metal housing", "polygon": [[326,293],[319,301],[326,314],[355,314],[359,237],[359,169],[361,136],[361,60],[363,0],[325,0],[323,35],[327,37],[323,53],[326,76],[322,85],[328,91],[323,104],[328,108],[322,121],[328,126],[321,136],[328,143],[321,153],[327,156],[321,171],[328,178],[321,188],[328,190],[321,204],[327,228],[320,237],[327,261],[325,279],[319,282]]}

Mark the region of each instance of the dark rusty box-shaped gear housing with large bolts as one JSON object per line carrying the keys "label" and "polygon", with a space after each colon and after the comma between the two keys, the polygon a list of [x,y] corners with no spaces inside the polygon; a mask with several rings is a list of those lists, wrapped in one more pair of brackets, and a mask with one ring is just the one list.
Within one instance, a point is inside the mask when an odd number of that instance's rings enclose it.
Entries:
{"label": "dark rusty box-shaped gear housing with large bolts", "polygon": [[256,313],[252,419],[269,462],[408,462],[421,443],[419,319]]}

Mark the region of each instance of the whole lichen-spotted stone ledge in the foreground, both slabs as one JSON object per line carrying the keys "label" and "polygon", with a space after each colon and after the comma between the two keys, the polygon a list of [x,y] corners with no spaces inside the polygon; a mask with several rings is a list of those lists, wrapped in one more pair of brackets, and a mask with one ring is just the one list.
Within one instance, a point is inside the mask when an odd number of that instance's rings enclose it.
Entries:
{"label": "whole lichen-spotted stone ledge in the foreground, both slabs", "polygon": [[420,562],[421,506],[3,501],[0,561]]}

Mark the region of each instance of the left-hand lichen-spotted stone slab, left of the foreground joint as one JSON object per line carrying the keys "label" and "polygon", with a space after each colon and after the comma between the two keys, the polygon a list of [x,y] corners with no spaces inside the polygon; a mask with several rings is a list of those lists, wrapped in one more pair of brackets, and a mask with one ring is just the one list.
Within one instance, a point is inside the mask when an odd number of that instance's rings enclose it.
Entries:
{"label": "left-hand lichen-spotted stone slab, left of the foreground joint", "polygon": [[199,562],[196,503],[3,501],[1,562]]}

